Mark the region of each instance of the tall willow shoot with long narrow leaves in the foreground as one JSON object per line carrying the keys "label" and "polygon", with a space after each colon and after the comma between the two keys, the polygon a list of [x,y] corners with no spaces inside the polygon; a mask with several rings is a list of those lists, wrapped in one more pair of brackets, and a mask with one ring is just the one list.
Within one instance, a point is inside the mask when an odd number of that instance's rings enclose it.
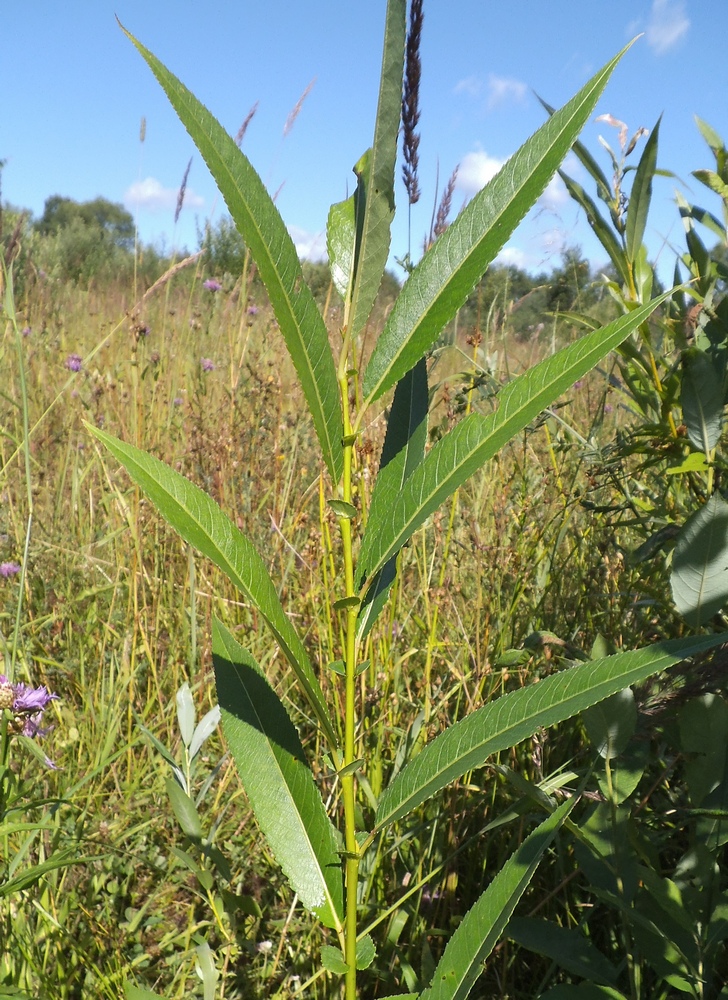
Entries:
{"label": "tall willow shoot with long narrow leaves in the foreground", "polygon": [[[607,656],[490,702],[452,724],[401,767],[382,791],[370,828],[358,826],[357,817],[367,815],[358,808],[359,775],[366,775],[368,766],[358,735],[368,679],[362,651],[396,577],[400,550],[443,501],[638,329],[664,299],[640,305],[514,378],[500,392],[494,412],[469,414],[426,449],[427,352],[558,169],[623,52],[528,139],[412,267],[366,359],[360,352],[361,333],[390,252],[405,35],[406,0],[388,0],[373,142],[354,168],[354,194],[333,205],[328,219],[329,261],[344,300],[337,357],[293,242],[260,177],[212,114],[129,35],[225,198],[265,283],[300,380],[340,534],[334,607],[343,616],[344,641],[332,662],[312,664],[264,560],[212,498],[152,456],[92,429],[180,535],[242,591],[290,663],[325,744],[320,767],[328,767],[340,786],[333,815],[285,705],[252,655],[215,621],[213,660],[230,751],[291,888],[330,929],[322,963],[329,975],[341,977],[343,985],[335,979],[332,991],[338,994],[341,988],[346,1000],[358,995],[358,970],[375,957],[367,929],[359,926],[357,886],[362,858],[378,838],[391,836],[396,823],[448,783],[483,765],[489,755],[718,641],[703,635]],[[365,421],[392,390],[379,473],[362,524],[356,450]],[[343,687],[343,698],[337,691],[331,703],[319,681],[319,671],[326,669]],[[464,917],[431,982],[410,996],[467,996],[574,801],[567,798],[557,805],[549,800],[543,822]]]}

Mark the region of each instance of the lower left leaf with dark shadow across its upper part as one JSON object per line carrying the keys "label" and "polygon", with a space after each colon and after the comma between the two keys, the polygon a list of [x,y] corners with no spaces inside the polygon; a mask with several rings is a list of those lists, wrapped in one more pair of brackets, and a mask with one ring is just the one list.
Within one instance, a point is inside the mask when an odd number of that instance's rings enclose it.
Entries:
{"label": "lower left leaf with dark shadow across its upper part", "polygon": [[295,726],[253,657],[217,619],[212,659],[223,732],[255,818],[301,902],[339,930],[336,833]]}

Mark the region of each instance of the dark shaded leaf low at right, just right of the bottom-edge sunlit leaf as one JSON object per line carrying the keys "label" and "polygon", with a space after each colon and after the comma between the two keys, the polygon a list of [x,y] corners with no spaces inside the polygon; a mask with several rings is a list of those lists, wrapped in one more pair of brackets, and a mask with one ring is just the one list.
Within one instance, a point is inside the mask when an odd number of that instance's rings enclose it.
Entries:
{"label": "dark shaded leaf low at right, just right of the bottom-edge sunlit leaf", "polygon": [[522,948],[545,955],[574,976],[606,986],[617,981],[615,967],[579,930],[536,917],[514,917],[506,933]]}

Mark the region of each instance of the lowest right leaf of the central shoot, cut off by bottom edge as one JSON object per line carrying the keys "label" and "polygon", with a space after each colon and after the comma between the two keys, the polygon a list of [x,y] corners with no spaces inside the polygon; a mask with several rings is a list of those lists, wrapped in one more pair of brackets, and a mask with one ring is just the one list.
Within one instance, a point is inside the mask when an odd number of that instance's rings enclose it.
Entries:
{"label": "lowest right leaf of the central shoot, cut off by bottom edge", "polygon": [[568,799],[559,806],[506,861],[448,941],[432,983],[420,994],[420,1000],[464,1000],[468,996],[483,971],[482,963],[495,947],[539,861],[575,802],[576,799]]}

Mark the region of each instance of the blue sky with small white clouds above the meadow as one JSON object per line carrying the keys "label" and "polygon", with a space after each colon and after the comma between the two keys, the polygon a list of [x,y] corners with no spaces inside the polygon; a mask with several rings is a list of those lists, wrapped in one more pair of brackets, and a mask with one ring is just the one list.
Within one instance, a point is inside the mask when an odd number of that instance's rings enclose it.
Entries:
{"label": "blue sky with small white clouds above the meadow", "polygon": [[[0,103],[3,200],[40,214],[49,195],[123,202],[140,236],[166,250],[196,248],[196,231],[224,205],[187,133],[115,15],[237,132],[258,109],[243,149],[267,183],[300,252],[321,252],[328,207],[351,193],[352,166],[371,142],[384,0],[35,0],[7,5]],[[705,207],[710,195],[690,171],[712,166],[693,116],[728,139],[727,0],[425,0],[420,184],[413,254],[429,229],[439,162],[440,188],[459,164],[457,209],[541,124],[536,91],[561,105],[634,35],[597,107],[630,132],[662,114],[659,179],[647,233],[665,276],[670,242],[681,246],[674,206],[680,186]],[[12,44],[10,44],[10,40]],[[295,124],[291,110],[309,85]],[[146,139],[139,141],[146,119]],[[590,122],[582,140],[605,172],[603,135]],[[193,158],[175,228],[177,191]],[[569,172],[588,182],[579,165]],[[393,254],[407,249],[404,189]],[[549,186],[510,240],[505,258],[532,270],[559,262],[565,244],[599,252],[559,183]]]}

